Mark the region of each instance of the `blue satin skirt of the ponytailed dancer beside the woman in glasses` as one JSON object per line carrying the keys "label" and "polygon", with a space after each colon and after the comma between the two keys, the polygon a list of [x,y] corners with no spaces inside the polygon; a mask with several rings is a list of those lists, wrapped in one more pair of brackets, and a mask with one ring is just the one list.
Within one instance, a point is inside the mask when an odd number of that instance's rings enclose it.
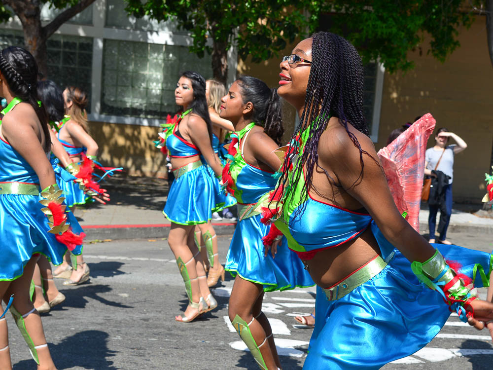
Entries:
{"label": "blue satin skirt of the ponytailed dancer beside the woman in glasses", "polygon": [[224,269],[263,285],[265,292],[315,285],[301,259],[287,248],[286,238],[282,238],[275,259],[271,251],[264,256],[262,237],[269,232],[269,226],[260,222],[261,218],[257,215],[236,224]]}

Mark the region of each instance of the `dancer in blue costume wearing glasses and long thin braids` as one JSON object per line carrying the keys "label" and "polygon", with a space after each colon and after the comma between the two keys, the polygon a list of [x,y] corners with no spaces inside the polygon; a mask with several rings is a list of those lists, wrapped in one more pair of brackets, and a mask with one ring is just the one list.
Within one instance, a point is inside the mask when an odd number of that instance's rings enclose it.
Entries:
{"label": "dancer in blue costume wearing glasses and long thin braids", "polygon": [[280,75],[301,124],[270,217],[317,283],[304,367],[379,369],[424,347],[450,310],[484,327],[493,304],[465,285],[489,284],[492,257],[430,245],[397,211],[368,137],[354,47],[317,33],[283,58]]}

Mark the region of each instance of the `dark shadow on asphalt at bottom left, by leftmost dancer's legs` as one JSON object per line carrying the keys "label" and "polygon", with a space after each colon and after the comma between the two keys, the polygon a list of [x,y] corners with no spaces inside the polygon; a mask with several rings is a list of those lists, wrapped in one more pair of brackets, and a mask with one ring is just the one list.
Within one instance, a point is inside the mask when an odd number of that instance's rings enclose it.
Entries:
{"label": "dark shadow on asphalt at bottom left, by leftmost dancer's legs", "polygon": [[[115,356],[116,351],[107,348],[108,334],[99,330],[87,330],[62,340],[59,344],[48,344],[58,370],[70,368],[117,370],[113,361],[107,357]],[[23,360],[13,366],[13,370],[34,369],[33,360]]]}

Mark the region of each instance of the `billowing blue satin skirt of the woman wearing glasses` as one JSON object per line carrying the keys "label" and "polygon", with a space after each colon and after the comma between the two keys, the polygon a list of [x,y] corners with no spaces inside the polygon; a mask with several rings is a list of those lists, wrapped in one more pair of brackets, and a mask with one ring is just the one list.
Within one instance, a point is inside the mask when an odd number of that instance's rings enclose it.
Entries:
{"label": "billowing blue satin skirt of the woman wearing glasses", "polygon": [[[375,236],[381,247],[388,243]],[[445,259],[461,263],[459,272],[473,279],[475,287],[487,285],[491,254],[455,245],[433,247]],[[418,281],[409,260],[394,252],[378,275],[341,299],[328,301],[317,287],[315,329],[304,369],[380,369],[412,355],[440,331],[449,306]]]}

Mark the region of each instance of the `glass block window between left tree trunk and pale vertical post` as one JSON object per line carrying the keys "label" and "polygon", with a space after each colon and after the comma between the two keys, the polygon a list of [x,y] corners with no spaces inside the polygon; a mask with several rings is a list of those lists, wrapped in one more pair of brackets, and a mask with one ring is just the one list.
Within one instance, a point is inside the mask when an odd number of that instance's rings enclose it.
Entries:
{"label": "glass block window between left tree trunk and pale vertical post", "polygon": [[91,110],[91,72],[93,39],[91,37],[53,35],[48,39],[48,78],[62,89],[77,86],[89,96],[86,110]]}

